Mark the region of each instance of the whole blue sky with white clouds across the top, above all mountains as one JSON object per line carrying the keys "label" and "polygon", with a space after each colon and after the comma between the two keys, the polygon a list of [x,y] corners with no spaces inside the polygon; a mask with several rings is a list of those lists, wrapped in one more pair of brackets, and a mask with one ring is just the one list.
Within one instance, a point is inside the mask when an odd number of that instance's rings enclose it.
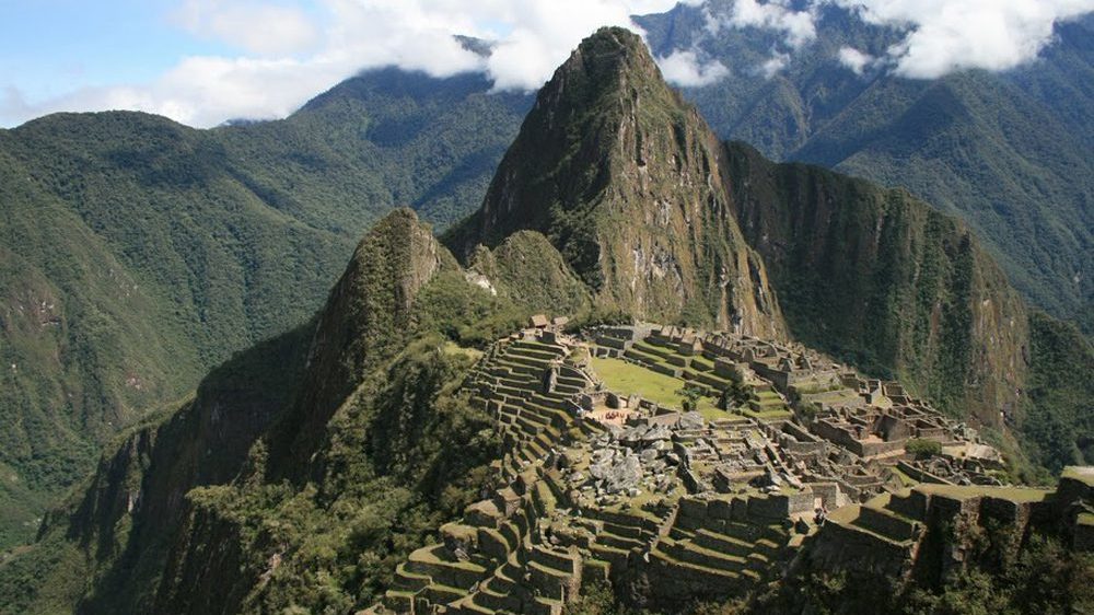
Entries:
{"label": "whole blue sky with white clouds across the top, above all mountains", "polygon": [[[144,111],[197,127],[283,117],[381,66],[481,71],[499,90],[531,91],[597,27],[633,27],[630,15],[676,1],[0,0],[0,127],[59,111]],[[833,61],[912,79],[1031,61],[1051,44],[1057,21],[1094,10],[1094,0],[734,0],[705,13],[700,36],[771,30],[784,44],[769,60],[723,66],[694,40],[659,58],[662,71],[682,85],[743,71],[773,77],[810,49],[822,3],[907,33],[876,57],[843,48]],[[493,54],[480,58],[454,34],[491,39]]]}

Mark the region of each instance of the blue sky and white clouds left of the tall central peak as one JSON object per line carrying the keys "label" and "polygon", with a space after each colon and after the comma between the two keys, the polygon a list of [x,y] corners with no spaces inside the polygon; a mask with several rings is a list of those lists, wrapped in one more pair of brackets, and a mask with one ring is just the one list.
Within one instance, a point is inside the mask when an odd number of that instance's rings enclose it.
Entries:
{"label": "blue sky and white clouds left of the tall central peak", "polygon": [[[58,111],[146,111],[198,127],[283,117],[391,65],[485,71],[500,89],[532,90],[597,26],[674,3],[0,0],[0,127]],[[484,60],[453,34],[500,40],[499,54]]]}

